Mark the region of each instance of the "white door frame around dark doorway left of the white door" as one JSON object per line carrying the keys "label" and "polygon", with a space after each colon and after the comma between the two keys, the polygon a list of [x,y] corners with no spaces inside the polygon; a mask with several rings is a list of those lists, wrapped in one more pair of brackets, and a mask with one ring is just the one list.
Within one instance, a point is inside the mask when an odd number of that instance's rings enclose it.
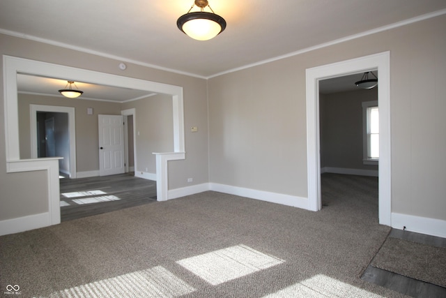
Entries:
{"label": "white door frame around dark doorway left of the white door", "polygon": [[31,122],[31,158],[37,156],[37,112],[55,112],[68,114],[68,133],[70,134],[70,178],[77,177],[76,169],[76,117],[74,107],[60,107],[57,105],[29,105]]}

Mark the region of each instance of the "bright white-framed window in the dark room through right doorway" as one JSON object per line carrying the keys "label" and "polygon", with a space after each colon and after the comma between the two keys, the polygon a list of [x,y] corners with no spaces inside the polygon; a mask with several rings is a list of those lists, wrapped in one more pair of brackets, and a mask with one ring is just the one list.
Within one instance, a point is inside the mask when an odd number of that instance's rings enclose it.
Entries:
{"label": "bright white-framed window in the dark room through right doorway", "polygon": [[377,165],[379,160],[379,110],[378,100],[362,103],[364,164]]}

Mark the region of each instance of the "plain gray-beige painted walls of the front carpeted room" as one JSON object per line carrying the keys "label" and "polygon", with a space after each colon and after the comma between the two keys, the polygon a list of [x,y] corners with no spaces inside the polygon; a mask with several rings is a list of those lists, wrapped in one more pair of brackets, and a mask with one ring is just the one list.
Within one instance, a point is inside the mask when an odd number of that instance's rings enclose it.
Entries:
{"label": "plain gray-beige painted walls of the front carpeted room", "polygon": [[[186,159],[169,163],[169,189],[190,186],[187,178],[193,177],[193,184],[306,198],[305,70],[390,51],[392,212],[446,221],[445,32],[441,15],[209,80],[130,64],[123,73],[113,59],[4,35],[0,52],[182,86]],[[190,133],[191,126],[198,133]],[[0,156],[6,156],[3,146]],[[6,174],[0,158],[0,221],[47,208],[45,179],[41,172]]]}

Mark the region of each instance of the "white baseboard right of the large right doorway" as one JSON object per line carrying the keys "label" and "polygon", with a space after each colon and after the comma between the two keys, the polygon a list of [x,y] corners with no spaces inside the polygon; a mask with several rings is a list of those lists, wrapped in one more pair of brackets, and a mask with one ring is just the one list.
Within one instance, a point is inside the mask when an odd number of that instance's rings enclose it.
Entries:
{"label": "white baseboard right of the large right doorway", "polygon": [[392,213],[392,228],[446,238],[446,221],[408,214]]}

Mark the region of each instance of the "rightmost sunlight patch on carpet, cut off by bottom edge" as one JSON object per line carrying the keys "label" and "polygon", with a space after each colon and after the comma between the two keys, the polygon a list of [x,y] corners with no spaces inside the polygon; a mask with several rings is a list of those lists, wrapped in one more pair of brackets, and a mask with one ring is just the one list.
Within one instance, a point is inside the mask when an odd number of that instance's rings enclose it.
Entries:
{"label": "rightmost sunlight patch on carpet, cut off by bottom edge", "polygon": [[300,283],[284,288],[263,298],[279,298],[279,297],[351,297],[351,298],[374,298],[381,297],[374,293],[368,292],[354,285],[349,285],[337,279],[318,274],[312,278],[305,279]]}

